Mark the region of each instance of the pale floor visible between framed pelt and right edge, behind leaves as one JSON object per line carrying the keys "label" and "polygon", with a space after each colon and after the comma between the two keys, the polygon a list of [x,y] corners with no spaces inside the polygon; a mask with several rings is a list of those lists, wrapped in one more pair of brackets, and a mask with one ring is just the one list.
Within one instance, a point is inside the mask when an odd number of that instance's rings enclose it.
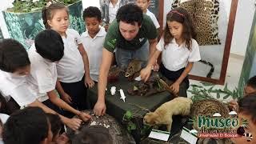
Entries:
{"label": "pale floor visible between framed pelt and right edge, behind leaves", "polygon": [[[238,82],[240,78],[240,74],[242,71],[242,64],[243,64],[244,57],[238,56],[235,54],[230,54],[227,71],[226,71],[226,82],[228,84],[229,90],[234,90],[235,87],[238,87]],[[199,85],[199,81],[190,80],[190,84],[196,84]],[[225,86],[225,85],[224,85]],[[224,86],[216,85],[214,88],[220,88],[223,89]],[[191,88],[191,86],[190,86]],[[188,96],[190,97],[191,94],[188,93]],[[226,102],[230,101],[231,99],[225,100]]]}

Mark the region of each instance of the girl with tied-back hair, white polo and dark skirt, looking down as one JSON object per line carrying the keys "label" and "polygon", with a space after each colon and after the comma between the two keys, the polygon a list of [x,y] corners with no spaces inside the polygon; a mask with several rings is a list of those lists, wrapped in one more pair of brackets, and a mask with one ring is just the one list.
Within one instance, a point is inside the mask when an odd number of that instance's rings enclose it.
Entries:
{"label": "girl with tied-back hair, white polo and dark skirt, looking down", "polygon": [[[67,7],[60,3],[51,4],[42,11],[42,18],[46,29],[58,32],[64,42],[64,55],[57,63],[58,93],[75,109],[89,109],[86,90],[87,87],[94,86],[94,81],[90,78],[88,57],[80,35],[77,31],[68,29]],[[74,114],[66,112],[66,116],[72,118]]]}

